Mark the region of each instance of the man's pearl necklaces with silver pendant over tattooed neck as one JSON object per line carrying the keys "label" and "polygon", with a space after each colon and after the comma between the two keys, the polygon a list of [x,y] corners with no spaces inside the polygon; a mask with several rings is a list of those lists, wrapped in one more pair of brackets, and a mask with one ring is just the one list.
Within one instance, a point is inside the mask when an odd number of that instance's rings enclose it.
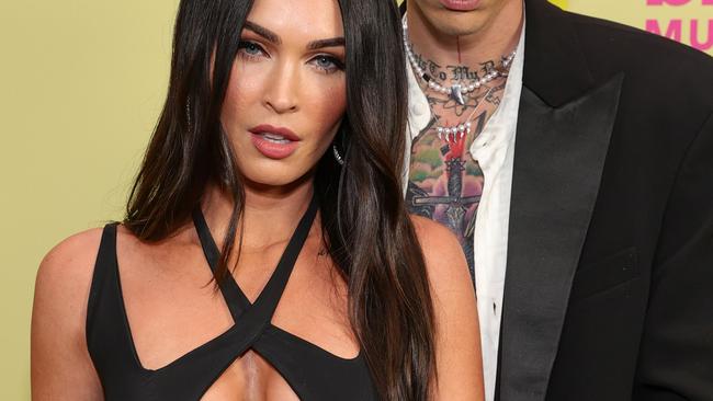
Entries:
{"label": "man's pearl necklaces with silver pendant over tattooed neck", "polygon": [[[411,65],[411,68],[416,72],[416,76],[421,79],[429,89],[449,95],[451,99],[456,101],[460,105],[465,105],[465,96],[477,90],[480,89],[484,84],[493,81],[496,78],[499,77],[508,77],[510,66],[512,65],[512,60],[514,59],[514,55],[517,50],[513,50],[510,53],[507,57],[502,57],[500,60],[500,64],[502,68],[500,70],[493,70],[485,75],[483,78],[476,79],[472,81],[469,84],[464,84],[462,82],[456,82],[451,84],[450,87],[444,87],[441,85],[440,83],[435,82],[435,79],[433,79],[431,76],[429,76],[423,69],[418,65],[418,61],[416,60],[416,55],[414,54],[414,46],[409,43],[408,41],[408,25],[406,24],[406,19],[404,19],[404,48],[406,49],[406,56],[408,58],[408,61]],[[472,128],[472,123],[471,118],[475,114],[475,110],[471,115],[468,115],[468,118],[466,119],[465,123],[457,124],[457,125],[451,125],[451,126],[437,126],[435,131],[438,134],[439,139],[443,139],[443,135],[445,135],[445,141],[450,141],[451,137],[453,140],[461,139],[463,136],[471,134],[471,128]]]}

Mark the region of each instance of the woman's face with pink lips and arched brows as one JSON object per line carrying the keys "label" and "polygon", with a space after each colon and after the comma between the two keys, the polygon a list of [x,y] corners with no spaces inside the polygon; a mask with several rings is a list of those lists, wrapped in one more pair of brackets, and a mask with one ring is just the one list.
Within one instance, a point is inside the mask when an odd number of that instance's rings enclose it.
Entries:
{"label": "woman's face with pink lips and arched brows", "polygon": [[256,0],[220,121],[252,183],[295,182],[331,145],[347,106],[337,0]]}

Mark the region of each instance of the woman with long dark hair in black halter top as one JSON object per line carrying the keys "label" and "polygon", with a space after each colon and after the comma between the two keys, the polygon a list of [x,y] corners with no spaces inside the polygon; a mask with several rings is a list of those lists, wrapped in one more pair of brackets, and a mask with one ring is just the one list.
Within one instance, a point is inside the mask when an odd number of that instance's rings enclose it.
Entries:
{"label": "woman with long dark hair in black halter top", "polygon": [[387,0],[183,0],[121,224],[43,261],[35,400],[477,400],[475,297],[401,198]]}

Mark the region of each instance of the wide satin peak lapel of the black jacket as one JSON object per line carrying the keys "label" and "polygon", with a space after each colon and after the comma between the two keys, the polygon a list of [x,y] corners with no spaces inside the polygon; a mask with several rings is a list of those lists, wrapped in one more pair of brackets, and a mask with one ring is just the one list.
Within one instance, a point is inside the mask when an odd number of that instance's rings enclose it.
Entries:
{"label": "wide satin peak lapel of the black jacket", "polygon": [[623,75],[553,108],[522,89],[503,295],[500,399],[544,400]]}

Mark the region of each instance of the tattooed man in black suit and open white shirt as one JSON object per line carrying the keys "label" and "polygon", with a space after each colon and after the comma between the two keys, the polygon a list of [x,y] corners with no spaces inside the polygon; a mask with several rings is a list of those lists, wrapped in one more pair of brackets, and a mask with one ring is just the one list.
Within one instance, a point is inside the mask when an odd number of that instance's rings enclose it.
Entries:
{"label": "tattooed man in black suit and open white shirt", "polygon": [[713,400],[713,59],[544,0],[404,5],[406,196],[461,239],[487,399]]}

